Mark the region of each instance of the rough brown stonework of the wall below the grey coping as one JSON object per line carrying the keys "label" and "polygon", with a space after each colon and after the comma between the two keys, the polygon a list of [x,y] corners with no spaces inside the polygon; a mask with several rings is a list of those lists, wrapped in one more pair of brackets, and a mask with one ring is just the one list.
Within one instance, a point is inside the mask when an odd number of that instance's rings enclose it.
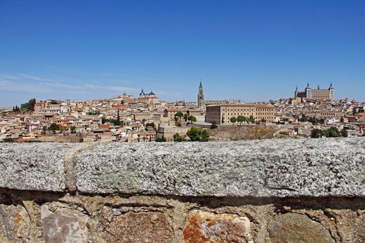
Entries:
{"label": "rough brown stonework of the wall below the grey coping", "polygon": [[[33,200],[33,201],[32,201]],[[0,242],[364,242],[363,198],[0,190]]]}

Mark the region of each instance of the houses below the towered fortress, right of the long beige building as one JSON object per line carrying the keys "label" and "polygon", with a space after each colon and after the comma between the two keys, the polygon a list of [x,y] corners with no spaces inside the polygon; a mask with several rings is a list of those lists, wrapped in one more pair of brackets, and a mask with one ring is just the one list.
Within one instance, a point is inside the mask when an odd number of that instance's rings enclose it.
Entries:
{"label": "houses below the towered fortress, right of the long beige building", "polygon": [[[336,127],[346,129],[349,136],[364,135],[365,103],[341,100],[314,100],[295,102],[297,99],[275,101],[275,123],[283,124],[281,133],[310,137],[314,128]],[[313,122],[316,121],[316,122]]]}

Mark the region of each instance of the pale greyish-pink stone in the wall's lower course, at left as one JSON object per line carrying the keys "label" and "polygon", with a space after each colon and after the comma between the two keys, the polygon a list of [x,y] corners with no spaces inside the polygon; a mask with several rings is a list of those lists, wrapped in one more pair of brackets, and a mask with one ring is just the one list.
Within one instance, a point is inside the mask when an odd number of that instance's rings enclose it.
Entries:
{"label": "pale greyish-pink stone in the wall's lower course, at left", "polygon": [[41,208],[43,237],[47,243],[88,242],[89,233],[86,223],[88,217],[76,210],[61,208],[49,211],[46,205]]}

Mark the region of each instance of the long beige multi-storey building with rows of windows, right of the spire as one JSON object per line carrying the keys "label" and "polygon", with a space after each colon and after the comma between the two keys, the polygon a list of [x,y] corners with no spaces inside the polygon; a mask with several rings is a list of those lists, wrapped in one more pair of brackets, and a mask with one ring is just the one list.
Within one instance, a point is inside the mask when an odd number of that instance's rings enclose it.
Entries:
{"label": "long beige multi-storey building with rows of windows, right of the spire", "polygon": [[266,119],[273,122],[275,119],[275,107],[266,104],[226,104],[206,106],[205,121],[216,124],[231,124],[231,117],[250,117],[256,120]]}

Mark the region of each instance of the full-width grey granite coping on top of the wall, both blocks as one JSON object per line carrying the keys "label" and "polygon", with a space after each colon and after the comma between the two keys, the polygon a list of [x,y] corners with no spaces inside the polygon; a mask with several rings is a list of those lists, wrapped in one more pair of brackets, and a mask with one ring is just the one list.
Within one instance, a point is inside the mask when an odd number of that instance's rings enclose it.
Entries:
{"label": "full-width grey granite coping on top of the wall, both blocks", "polygon": [[365,139],[1,143],[0,187],[85,194],[363,197]]}

